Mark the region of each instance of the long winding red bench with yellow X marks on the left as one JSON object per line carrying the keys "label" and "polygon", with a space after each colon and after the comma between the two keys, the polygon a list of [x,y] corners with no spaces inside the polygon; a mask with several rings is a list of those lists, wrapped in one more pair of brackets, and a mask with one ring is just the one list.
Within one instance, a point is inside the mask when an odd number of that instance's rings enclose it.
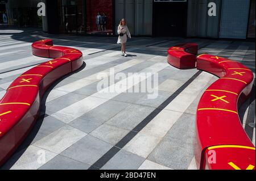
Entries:
{"label": "long winding red bench with yellow X marks on the left", "polygon": [[53,46],[49,39],[36,41],[31,47],[35,56],[55,59],[20,75],[0,100],[0,165],[34,125],[40,113],[40,100],[48,87],[83,64],[80,50]]}

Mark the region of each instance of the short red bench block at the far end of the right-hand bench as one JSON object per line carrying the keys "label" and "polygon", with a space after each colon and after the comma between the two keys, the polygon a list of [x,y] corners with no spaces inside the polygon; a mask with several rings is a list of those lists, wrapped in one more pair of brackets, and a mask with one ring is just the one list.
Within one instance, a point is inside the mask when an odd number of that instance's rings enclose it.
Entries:
{"label": "short red bench block at the far end of the right-hand bench", "polygon": [[167,60],[178,69],[196,68],[196,54],[198,45],[195,43],[179,44],[168,49]]}

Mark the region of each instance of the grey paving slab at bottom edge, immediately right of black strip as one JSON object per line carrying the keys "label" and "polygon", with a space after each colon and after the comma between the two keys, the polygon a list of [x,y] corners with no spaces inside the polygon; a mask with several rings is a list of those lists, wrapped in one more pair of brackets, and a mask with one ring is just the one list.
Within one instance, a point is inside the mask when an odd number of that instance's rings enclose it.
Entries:
{"label": "grey paving slab at bottom edge, immediately right of black strip", "polygon": [[144,158],[138,155],[120,150],[102,167],[102,170],[135,170],[143,161]]}

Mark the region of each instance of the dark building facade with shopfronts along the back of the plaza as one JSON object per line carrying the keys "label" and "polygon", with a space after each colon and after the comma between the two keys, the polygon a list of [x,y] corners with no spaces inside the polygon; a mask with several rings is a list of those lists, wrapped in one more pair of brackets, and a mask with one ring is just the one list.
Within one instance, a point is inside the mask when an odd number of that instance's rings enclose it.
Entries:
{"label": "dark building facade with shopfronts along the back of the plaza", "polygon": [[[125,18],[133,36],[255,38],[255,0],[4,0],[0,2],[5,4],[9,24],[15,25],[15,22],[19,22],[20,27],[42,26],[43,31],[49,33],[112,36],[117,35],[117,26],[120,20]],[[36,15],[38,2],[46,4],[46,16],[41,18]],[[211,9],[209,3],[216,5],[214,16],[208,14]],[[3,6],[0,7],[2,12]],[[2,16],[0,14],[0,22]],[[31,18],[26,18],[28,16]]]}

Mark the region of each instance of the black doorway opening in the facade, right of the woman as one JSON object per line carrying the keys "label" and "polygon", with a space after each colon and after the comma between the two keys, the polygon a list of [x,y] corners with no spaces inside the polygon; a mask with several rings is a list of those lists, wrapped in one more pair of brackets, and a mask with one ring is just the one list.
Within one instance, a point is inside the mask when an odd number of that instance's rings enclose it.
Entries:
{"label": "black doorway opening in the facade, right of the woman", "polygon": [[153,35],[185,37],[187,9],[187,2],[154,2]]}

